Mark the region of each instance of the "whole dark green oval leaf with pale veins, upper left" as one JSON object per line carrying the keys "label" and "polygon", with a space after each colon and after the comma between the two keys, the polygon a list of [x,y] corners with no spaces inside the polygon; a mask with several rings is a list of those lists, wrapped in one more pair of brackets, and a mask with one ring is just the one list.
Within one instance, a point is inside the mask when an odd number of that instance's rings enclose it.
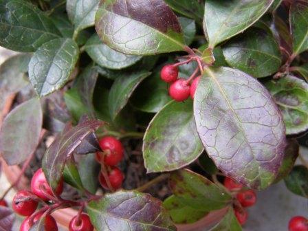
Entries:
{"label": "whole dark green oval leaf with pale veins, upper left", "polygon": [[36,93],[46,96],[63,87],[78,55],[78,45],[72,39],[54,39],[39,47],[29,63],[29,78]]}

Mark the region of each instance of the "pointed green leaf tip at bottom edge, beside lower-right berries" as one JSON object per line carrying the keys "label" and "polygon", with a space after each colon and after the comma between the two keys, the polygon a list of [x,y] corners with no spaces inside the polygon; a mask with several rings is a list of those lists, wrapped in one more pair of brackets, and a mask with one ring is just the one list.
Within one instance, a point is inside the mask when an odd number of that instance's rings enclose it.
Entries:
{"label": "pointed green leaf tip at bottom edge, beside lower-right berries", "polygon": [[229,208],[223,219],[210,231],[241,231],[241,225],[237,221],[233,208]]}

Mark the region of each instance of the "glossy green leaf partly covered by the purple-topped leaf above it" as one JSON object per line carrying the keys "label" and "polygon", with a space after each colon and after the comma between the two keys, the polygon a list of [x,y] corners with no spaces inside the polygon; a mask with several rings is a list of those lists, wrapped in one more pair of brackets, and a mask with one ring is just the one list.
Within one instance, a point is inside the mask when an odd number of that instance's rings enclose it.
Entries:
{"label": "glossy green leaf partly covered by the purple-topped leaf above it", "polygon": [[100,41],[97,34],[91,36],[87,41],[85,44],[85,51],[94,62],[101,67],[107,67],[109,69],[129,67],[142,58],[142,56],[133,56],[112,50],[109,46]]}

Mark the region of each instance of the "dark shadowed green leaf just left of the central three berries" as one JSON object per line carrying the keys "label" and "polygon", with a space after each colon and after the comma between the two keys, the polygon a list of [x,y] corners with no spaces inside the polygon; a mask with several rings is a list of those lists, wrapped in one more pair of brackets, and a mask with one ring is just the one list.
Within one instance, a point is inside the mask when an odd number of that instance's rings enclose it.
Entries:
{"label": "dark shadowed green leaf just left of the central three berries", "polygon": [[168,84],[160,78],[159,69],[146,78],[133,94],[133,106],[140,111],[157,113],[171,100],[168,95]]}

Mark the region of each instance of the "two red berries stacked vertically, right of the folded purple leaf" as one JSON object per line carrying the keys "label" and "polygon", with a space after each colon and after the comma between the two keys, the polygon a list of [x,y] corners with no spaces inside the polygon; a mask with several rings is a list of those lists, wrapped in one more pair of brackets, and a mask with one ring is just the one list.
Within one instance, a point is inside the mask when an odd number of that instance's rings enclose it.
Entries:
{"label": "two red berries stacked vertically, right of the folded purple leaf", "polygon": [[[96,160],[102,165],[102,170],[98,176],[98,181],[103,188],[109,190],[117,190],[122,187],[122,182],[124,175],[122,171],[116,167],[119,162],[124,157],[124,148],[122,143],[115,139],[113,136],[105,136],[99,140],[100,148],[102,152],[96,153]],[[104,176],[104,170],[106,170],[107,175]],[[110,188],[106,181],[108,177]]]}

